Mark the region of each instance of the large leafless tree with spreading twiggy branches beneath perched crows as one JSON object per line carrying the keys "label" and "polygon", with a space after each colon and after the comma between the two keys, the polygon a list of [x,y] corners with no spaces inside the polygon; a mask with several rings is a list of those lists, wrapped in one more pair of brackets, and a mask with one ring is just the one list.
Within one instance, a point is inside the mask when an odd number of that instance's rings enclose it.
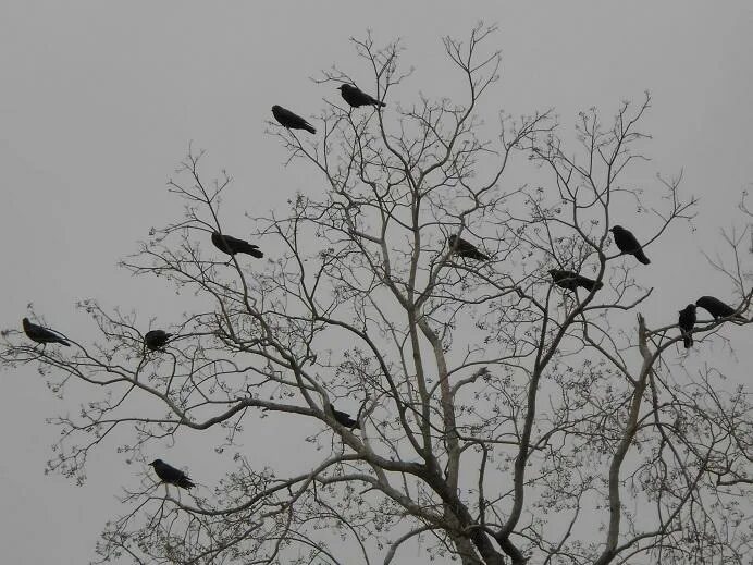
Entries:
{"label": "large leafless tree with spreading twiggy branches beneath perched crows", "polygon": [[[102,562],[386,565],[418,541],[466,565],[743,563],[748,393],[725,392],[713,366],[686,370],[677,320],[641,314],[652,293],[674,297],[642,286],[651,266],[608,232],[632,226],[651,256],[694,213],[681,176],[650,193],[624,181],[646,167],[651,99],[606,123],[580,114],[569,148],[552,111],[484,106],[501,65],[493,32],[443,40],[461,100],[408,106],[391,97],[410,84],[402,45],[353,39],[373,73],[359,86],[387,107],[326,101],[316,137],[270,124],[322,189],[252,218],[264,261],[215,258],[209,235],[225,233],[232,180],[207,182],[189,151],[169,184],[183,218],[123,261],[192,293],[164,352],[145,349],[145,320],[94,300],[79,306],[95,344],[41,348],[5,332],[5,366],[37,364],[60,394],[90,388],[78,415],[55,419],[50,469],[71,477],[116,428],[131,438],[119,451],[150,477],[149,447],[181,430],[217,441],[220,428],[221,450],[252,443],[244,423],[273,413],[306,422],[288,430],[316,447],[297,471],[238,454],[211,489],[145,479],[108,525]],[[354,83],[336,67],[319,81]],[[490,259],[457,254],[452,235]],[[752,296],[746,242],[727,237],[732,262],[714,263],[739,312]],[[548,269],[603,286],[564,288]],[[723,340],[725,323],[701,319],[696,342]],[[344,405],[358,427],[334,417]]]}

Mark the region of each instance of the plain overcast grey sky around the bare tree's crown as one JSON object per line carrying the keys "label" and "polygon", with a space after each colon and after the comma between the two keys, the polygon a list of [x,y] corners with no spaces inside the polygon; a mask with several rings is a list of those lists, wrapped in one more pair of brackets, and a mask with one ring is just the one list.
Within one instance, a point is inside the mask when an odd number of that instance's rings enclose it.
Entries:
{"label": "plain overcast grey sky around the bare tree's crown", "polygon": [[[753,183],[750,2],[7,0],[2,327],[18,327],[30,302],[50,326],[77,335],[91,332],[74,311],[81,298],[169,311],[177,297],[165,286],[115,263],[150,226],[177,217],[180,202],[164,184],[189,140],[209,151],[208,174],[225,168],[234,176],[225,222],[248,231],[240,210],[261,213],[298,189],[323,189],[307,170],[282,168],[283,149],[264,134],[273,103],[318,113],[322,98],[337,93],[308,77],[334,62],[368,85],[368,69],[347,41],[367,28],[378,42],[405,38],[404,61],[417,66],[388,102],[410,101],[419,90],[452,95],[457,84],[445,81],[440,38],[465,37],[480,19],[501,27],[496,106],[514,115],[555,107],[570,125],[578,110],[595,106],[607,116],[620,100],[652,91],[644,122],[654,136],[652,171],[684,169],[686,192],[702,199],[698,232],[672,231],[652,251],[657,277],[688,297],[724,285],[699,250],[717,247],[712,235],[729,225],[726,216]],[[686,280],[674,281],[678,272]],[[717,294],[731,291],[724,288]],[[655,302],[652,315],[670,319],[676,306]],[[45,418],[75,412],[81,398],[55,400],[32,370],[0,378],[3,561],[79,565],[92,556],[106,519],[122,512],[116,496],[138,483],[140,469],[124,466],[110,442],[92,457],[84,487],[44,477],[59,432]]]}

